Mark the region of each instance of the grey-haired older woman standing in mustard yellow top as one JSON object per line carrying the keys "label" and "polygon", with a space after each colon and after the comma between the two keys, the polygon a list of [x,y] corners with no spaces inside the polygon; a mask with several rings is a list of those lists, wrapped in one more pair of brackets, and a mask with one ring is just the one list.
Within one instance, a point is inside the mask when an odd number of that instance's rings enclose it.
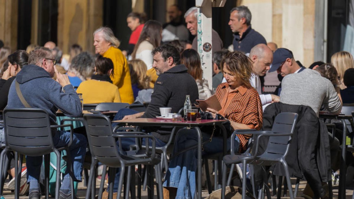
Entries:
{"label": "grey-haired older woman standing in mustard yellow top", "polygon": [[130,80],[129,66],[122,51],[118,49],[119,40],[108,27],[98,28],[93,33],[95,51],[103,57],[110,58],[114,65],[114,72],[110,75],[113,84],[118,86],[121,101],[133,103],[134,96]]}

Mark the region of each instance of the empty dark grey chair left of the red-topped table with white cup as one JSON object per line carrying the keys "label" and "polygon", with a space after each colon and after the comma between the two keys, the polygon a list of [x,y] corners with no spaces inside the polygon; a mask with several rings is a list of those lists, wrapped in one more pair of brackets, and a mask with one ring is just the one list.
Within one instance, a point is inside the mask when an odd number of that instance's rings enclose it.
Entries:
{"label": "empty dark grey chair left of the red-topped table with white cup", "polygon": [[[162,181],[161,181],[161,168],[160,157],[155,154],[155,138],[152,135],[147,135],[143,132],[114,132],[109,118],[101,114],[85,114],[84,124],[87,133],[87,140],[89,141],[90,151],[92,157],[94,157],[91,164],[91,171],[95,171],[98,161],[104,165],[109,166],[109,199],[113,197],[113,183],[115,177],[115,171],[117,167],[121,169],[121,177],[119,179],[117,199],[120,198],[122,192],[122,185],[125,174],[125,167],[128,167],[127,176],[131,175],[131,166],[144,164],[150,167],[147,174],[150,176],[149,181],[152,181],[152,169],[151,165],[155,165],[156,183],[158,183],[159,198],[163,198],[162,194]],[[121,146],[121,138],[150,138],[152,140],[152,148],[150,150],[149,143],[145,150],[137,148],[131,151],[117,150],[116,138],[119,140]],[[137,144],[137,146],[139,146]],[[86,199],[90,197],[91,184],[94,180],[94,172],[91,172],[89,178],[89,184],[87,185]],[[126,183],[126,199],[129,198],[130,190],[130,178],[127,178]],[[153,195],[153,188],[150,187],[148,195]],[[92,194],[91,196],[94,196]],[[153,196],[152,196],[153,197]],[[100,196],[99,196],[100,198]]]}

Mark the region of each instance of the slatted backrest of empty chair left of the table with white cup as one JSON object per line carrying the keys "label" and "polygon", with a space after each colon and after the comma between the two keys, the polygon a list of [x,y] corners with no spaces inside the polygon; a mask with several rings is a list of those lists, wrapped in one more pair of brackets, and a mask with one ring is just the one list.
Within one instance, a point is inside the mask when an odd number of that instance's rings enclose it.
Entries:
{"label": "slatted backrest of empty chair left of the table with white cup", "polygon": [[84,114],[84,125],[91,154],[103,164],[116,167],[120,155],[109,118],[102,114]]}

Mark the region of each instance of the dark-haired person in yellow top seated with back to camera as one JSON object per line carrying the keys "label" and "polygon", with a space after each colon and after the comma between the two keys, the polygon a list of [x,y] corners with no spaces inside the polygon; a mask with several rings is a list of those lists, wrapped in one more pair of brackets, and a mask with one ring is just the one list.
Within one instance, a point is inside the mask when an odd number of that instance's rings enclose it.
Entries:
{"label": "dark-haired person in yellow top seated with back to camera", "polygon": [[112,84],[109,77],[112,72],[113,62],[109,58],[98,56],[91,79],[81,82],[76,90],[77,93],[82,93],[85,104],[121,102],[118,87]]}

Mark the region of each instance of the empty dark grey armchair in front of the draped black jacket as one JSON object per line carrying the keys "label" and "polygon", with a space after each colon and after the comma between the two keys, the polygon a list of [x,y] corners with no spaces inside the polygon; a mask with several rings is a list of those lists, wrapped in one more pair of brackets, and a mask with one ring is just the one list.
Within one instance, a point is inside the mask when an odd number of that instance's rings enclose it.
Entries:
{"label": "empty dark grey armchair in front of the draped black jacket", "polygon": [[[272,131],[241,131],[237,130],[231,136],[231,155],[225,155],[224,167],[223,167],[223,180],[222,180],[222,195],[225,198],[225,186],[226,186],[226,165],[230,164],[254,164],[254,165],[273,165],[280,162],[284,166],[286,173],[287,186],[290,193],[290,198],[293,199],[292,187],[290,182],[289,170],[285,161],[285,156],[289,150],[291,136],[295,129],[297,121],[296,113],[279,113],[274,120]],[[234,142],[237,134],[258,134],[255,138],[253,147],[255,150],[252,154],[234,154]],[[257,155],[258,153],[258,141],[259,138],[267,136],[269,137],[267,148],[264,153]],[[243,167],[242,176],[246,176],[246,166]],[[242,180],[242,199],[246,198],[246,180]]]}

